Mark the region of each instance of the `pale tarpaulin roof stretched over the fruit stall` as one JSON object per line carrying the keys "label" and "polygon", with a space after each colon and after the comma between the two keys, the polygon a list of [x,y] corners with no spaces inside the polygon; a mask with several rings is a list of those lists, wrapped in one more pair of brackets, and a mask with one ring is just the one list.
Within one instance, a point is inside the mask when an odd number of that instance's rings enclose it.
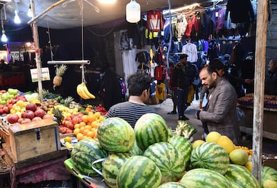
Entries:
{"label": "pale tarpaulin roof stretched over the fruit stall", "polygon": [[[3,6],[3,21],[13,23],[15,17],[15,10],[21,19],[21,23],[28,23],[30,17],[28,17],[28,6],[30,0],[0,0],[0,5]],[[35,15],[39,15],[46,8],[57,3],[59,0],[35,0]],[[100,0],[67,0],[61,3],[59,6],[46,12],[41,17],[37,26],[43,28],[76,28],[81,26],[81,6],[83,3],[83,23],[84,26],[93,26],[99,23],[105,23],[114,21],[116,19],[125,18],[125,8],[130,0],[117,0],[114,4],[100,3]],[[180,6],[188,6],[192,3],[210,3],[215,0],[171,0],[170,4],[172,8]],[[161,10],[168,8],[168,0],[136,0],[141,5],[141,12],[148,10]],[[99,11],[98,11],[99,10]]]}

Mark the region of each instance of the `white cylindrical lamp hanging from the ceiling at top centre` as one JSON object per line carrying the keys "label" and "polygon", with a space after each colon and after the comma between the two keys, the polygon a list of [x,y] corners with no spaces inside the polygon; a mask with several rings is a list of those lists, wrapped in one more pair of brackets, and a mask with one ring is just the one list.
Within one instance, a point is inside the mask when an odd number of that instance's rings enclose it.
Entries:
{"label": "white cylindrical lamp hanging from the ceiling at top centre", "polygon": [[136,23],[141,20],[141,6],[136,0],[131,0],[126,6],[126,20],[129,23]]}

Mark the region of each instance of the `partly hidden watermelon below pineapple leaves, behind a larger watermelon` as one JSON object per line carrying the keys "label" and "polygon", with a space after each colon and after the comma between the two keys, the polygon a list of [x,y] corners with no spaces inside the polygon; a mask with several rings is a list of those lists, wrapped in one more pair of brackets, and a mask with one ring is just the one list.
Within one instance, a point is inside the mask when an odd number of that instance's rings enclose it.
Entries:
{"label": "partly hidden watermelon below pineapple leaves, behind a larger watermelon", "polygon": [[184,165],[188,167],[190,164],[190,154],[193,151],[192,144],[184,138],[183,136],[173,136],[172,138],[168,139],[168,142],[172,144],[177,151],[184,157]]}

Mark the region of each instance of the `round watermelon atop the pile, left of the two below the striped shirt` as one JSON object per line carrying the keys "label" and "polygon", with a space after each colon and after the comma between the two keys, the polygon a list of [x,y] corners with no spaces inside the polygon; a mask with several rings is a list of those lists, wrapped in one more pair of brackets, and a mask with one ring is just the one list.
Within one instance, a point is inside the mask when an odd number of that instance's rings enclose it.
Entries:
{"label": "round watermelon atop the pile, left of the two below the striped shirt", "polygon": [[103,120],[97,131],[102,148],[114,153],[124,153],[134,145],[134,129],[122,118],[107,118]]}

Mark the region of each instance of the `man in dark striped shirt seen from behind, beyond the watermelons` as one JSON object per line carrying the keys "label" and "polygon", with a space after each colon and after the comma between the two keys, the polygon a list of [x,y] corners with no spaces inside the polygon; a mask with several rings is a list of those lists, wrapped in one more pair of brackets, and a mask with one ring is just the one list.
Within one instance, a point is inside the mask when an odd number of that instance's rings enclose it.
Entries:
{"label": "man in dark striped shirt seen from behind, beyond the watermelons", "polygon": [[118,117],[126,120],[133,128],[136,121],[145,113],[156,113],[152,106],[146,105],[150,97],[151,77],[137,72],[127,79],[129,101],[111,106],[106,117]]}

